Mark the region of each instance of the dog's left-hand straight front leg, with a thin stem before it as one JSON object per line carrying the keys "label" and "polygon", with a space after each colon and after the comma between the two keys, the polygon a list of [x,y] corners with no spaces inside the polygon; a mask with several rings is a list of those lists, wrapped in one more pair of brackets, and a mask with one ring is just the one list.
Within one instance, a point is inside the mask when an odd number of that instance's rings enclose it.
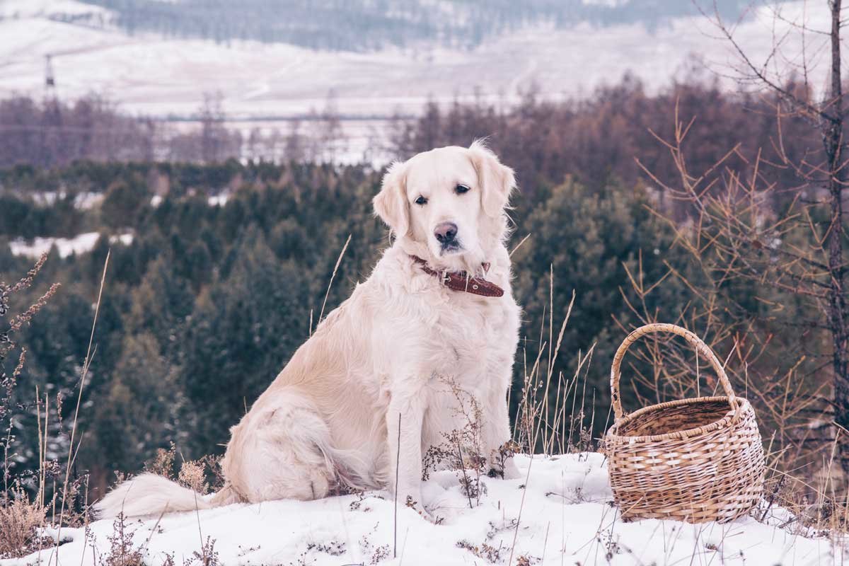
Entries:
{"label": "dog's left-hand straight front leg, with a thin stem before it", "polygon": [[422,395],[393,392],[386,412],[390,486],[399,504],[413,507],[429,518],[421,497],[423,419]]}

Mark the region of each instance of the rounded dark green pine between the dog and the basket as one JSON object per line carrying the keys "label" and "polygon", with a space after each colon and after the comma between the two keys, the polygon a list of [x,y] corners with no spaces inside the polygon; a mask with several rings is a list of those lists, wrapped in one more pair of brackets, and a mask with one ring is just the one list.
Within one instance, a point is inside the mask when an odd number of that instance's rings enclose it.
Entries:
{"label": "rounded dark green pine between the dog and the basket", "polygon": [[[610,385],[604,364],[612,359],[625,334],[618,325],[638,324],[639,313],[632,310],[627,300],[633,305],[644,305],[652,313],[656,311],[660,320],[674,321],[692,299],[674,278],[667,278],[645,297],[644,303],[636,300],[628,284],[629,272],[638,277],[641,255],[646,281],[656,281],[667,272],[665,261],[682,272],[688,269],[686,256],[672,249],[672,231],[655,219],[646,209],[647,204],[643,194],[629,192],[616,184],[592,193],[568,179],[552,189],[548,199],[526,216],[522,226],[531,233],[531,238],[514,254],[514,294],[525,311],[522,328],[525,340],[520,350],[526,349],[528,359],[536,358],[541,335],[544,342],[549,342],[549,325],[553,326],[554,340],[557,339],[572,291],[576,293],[563,345],[554,364],[554,378],[560,372],[571,378],[577,367],[578,350],[586,353],[595,345],[594,362],[588,373],[587,402],[595,396],[597,433],[604,429],[610,407]],[[552,274],[553,300],[549,291]],[[521,351],[517,359],[522,359]],[[547,359],[546,354],[543,366]],[[519,376],[522,369],[517,368]],[[515,405],[518,395],[512,399]],[[554,407],[554,399],[550,401],[549,405]]]}

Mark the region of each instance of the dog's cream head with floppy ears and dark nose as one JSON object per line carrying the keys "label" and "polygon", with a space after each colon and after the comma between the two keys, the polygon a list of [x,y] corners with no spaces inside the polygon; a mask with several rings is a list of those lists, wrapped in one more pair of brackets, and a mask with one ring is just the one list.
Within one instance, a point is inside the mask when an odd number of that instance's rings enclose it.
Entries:
{"label": "dog's cream head with floppy ears and dark nose", "polygon": [[481,142],[431,149],[391,165],[374,211],[402,244],[436,266],[480,266],[506,235],[513,170]]}

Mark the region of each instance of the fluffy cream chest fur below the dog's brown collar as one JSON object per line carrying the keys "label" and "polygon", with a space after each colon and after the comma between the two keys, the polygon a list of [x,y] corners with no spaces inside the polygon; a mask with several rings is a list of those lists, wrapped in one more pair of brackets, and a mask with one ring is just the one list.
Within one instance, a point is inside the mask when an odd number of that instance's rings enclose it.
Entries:
{"label": "fluffy cream chest fur below the dog's brown collar", "polygon": [[[423,388],[427,418],[434,421],[430,426],[426,423],[425,429],[444,430],[455,420],[456,389],[486,406],[509,388],[520,316],[509,289],[509,263],[494,264],[487,274],[488,280],[505,290],[503,297],[482,297],[447,289],[405,256],[393,257],[392,251],[387,255],[386,271],[396,300],[385,305],[384,314],[388,320],[402,322],[398,333],[405,337],[396,341],[391,352],[395,367],[386,368],[387,377],[412,373],[407,378]],[[507,257],[506,252],[503,255]],[[396,267],[399,261],[404,270]],[[379,279],[385,275],[382,266],[375,275]],[[405,289],[398,289],[402,284]],[[410,367],[408,362],[413,360]]]}

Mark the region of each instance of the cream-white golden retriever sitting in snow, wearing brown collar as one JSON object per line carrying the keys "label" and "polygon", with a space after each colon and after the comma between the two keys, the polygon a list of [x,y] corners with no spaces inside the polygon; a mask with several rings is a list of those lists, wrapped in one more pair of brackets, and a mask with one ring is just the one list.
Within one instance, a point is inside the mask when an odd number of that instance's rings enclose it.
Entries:
{"label": "cream-white golden retriever sitting in snow, wearing brown collar", "polygon": [[[426,515],[422,458],[463,428],[457,389],[476,400],[478,448],[495,466],[510,439],[519,333],[504,245],[514,185],[479,142],[393,164],[374,210],[394,244],[231,429],[225,487],[202,499],[142,474],[105,496],[99,516],[309,500],[336,486],[396,490]],[[512,459],[497,471],[517,476]]]}

